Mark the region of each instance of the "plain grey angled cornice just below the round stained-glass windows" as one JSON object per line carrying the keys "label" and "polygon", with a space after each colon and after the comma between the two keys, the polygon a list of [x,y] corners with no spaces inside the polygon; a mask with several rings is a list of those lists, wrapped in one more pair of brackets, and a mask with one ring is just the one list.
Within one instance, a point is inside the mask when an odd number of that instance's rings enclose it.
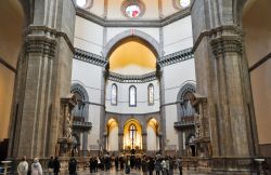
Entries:
{"label": "plain grey angled cornice just below the round stained-glass windows", "polygon": [[76,8],[76,14],[88,21],[91,21],[103,27],[164,27],[181,18],[184,18],[191,14],[191,8],[181,10],[172,15],[169,15],[162,19],[129,19],[129,21],[114,21],[100,17],[93,13],[90,13],[83,9]]}

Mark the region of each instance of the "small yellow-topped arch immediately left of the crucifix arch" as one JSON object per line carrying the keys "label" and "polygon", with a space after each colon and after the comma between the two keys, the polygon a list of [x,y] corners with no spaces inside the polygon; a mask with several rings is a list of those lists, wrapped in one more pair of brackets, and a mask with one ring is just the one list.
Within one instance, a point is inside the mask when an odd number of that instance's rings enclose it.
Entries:
{"label": "small yellow-topped arch immediately left of the crucifix arch", "polygon": [[111,118],[107,122],[107,147],[108,151],[118,150],[118,123]]}

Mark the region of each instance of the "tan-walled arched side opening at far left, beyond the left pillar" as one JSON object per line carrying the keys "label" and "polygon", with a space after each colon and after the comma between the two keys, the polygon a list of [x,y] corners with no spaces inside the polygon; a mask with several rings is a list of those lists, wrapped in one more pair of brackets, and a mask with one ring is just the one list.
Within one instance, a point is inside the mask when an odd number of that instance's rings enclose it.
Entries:
{"label": "tan-walled arched side opening at far left, beyond the left pillar", "polygon": [[24,12],[17,0],[0,1],[0,160],[3,160],[8,153],[13,88],[24,32]]}

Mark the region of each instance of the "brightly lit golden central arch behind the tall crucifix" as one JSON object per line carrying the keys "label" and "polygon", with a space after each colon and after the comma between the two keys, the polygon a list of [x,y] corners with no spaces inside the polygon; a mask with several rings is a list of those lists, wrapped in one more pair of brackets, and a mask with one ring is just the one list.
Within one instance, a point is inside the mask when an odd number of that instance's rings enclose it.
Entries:
{"label": "brightly lit golden central arch behind the tall crucifix", "polygon": [[139,121],[131,119],[126,122],[124,127],[124,149],[142,149],[142,126]]}

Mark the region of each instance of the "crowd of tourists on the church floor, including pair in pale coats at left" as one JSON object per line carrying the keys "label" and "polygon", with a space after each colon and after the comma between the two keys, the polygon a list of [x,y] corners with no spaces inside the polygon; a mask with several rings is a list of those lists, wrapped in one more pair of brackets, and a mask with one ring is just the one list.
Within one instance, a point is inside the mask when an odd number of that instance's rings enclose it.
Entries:
{"label": "crowd of tourists on the church floor, including pair in pale coats at left", "polygon": [[[77,174],[77,161],[75,158],[70,158],[68,162],[69,175]],[[129,174],[131,169],[142,171],[144,175],[172,175],[175,167],[178,167],[180,175],[182,175],[182,163],[181,158],[172,159],[170,157],[136,157],[136,156],[121,156],[112,158],[108,154],[103,157],[92,157],[87,163],[90,173],[96,173],[99,171],[111,171],[115,169],[116,172],[122,171]],[[61,169],[61,163],[59,158],[51,157],[47,164],[47,174],[59,175]],[[17,166],[17,173],[20,175],[42,175],[43,171],[39,159],[35,158],[33,163],[28,165],[26,157],[23,157],[22,161]]]}

